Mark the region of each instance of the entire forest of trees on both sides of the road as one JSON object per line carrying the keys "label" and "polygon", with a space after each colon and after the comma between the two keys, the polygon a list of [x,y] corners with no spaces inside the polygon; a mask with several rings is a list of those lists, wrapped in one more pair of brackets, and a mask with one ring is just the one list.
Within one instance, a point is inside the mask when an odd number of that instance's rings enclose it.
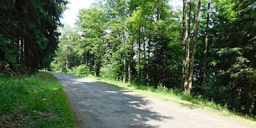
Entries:
{"label": "entire forest of trees on both sides of the road", "polygon": [[67,3],[0,2],[1,72],[76,72],[256,115],[255,0],[99,0],[75,29],[60,24]]}

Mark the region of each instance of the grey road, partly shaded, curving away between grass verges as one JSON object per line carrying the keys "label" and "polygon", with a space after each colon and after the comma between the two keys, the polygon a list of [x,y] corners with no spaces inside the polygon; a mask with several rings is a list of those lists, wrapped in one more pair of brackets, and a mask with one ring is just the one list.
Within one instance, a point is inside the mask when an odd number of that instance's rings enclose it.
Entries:
{"label": "grey road, partly shaded, curving away between grass verges", "polygon": [[250,127],[136,93],[51,72],[63,84],[77,120],[77,127]]}

